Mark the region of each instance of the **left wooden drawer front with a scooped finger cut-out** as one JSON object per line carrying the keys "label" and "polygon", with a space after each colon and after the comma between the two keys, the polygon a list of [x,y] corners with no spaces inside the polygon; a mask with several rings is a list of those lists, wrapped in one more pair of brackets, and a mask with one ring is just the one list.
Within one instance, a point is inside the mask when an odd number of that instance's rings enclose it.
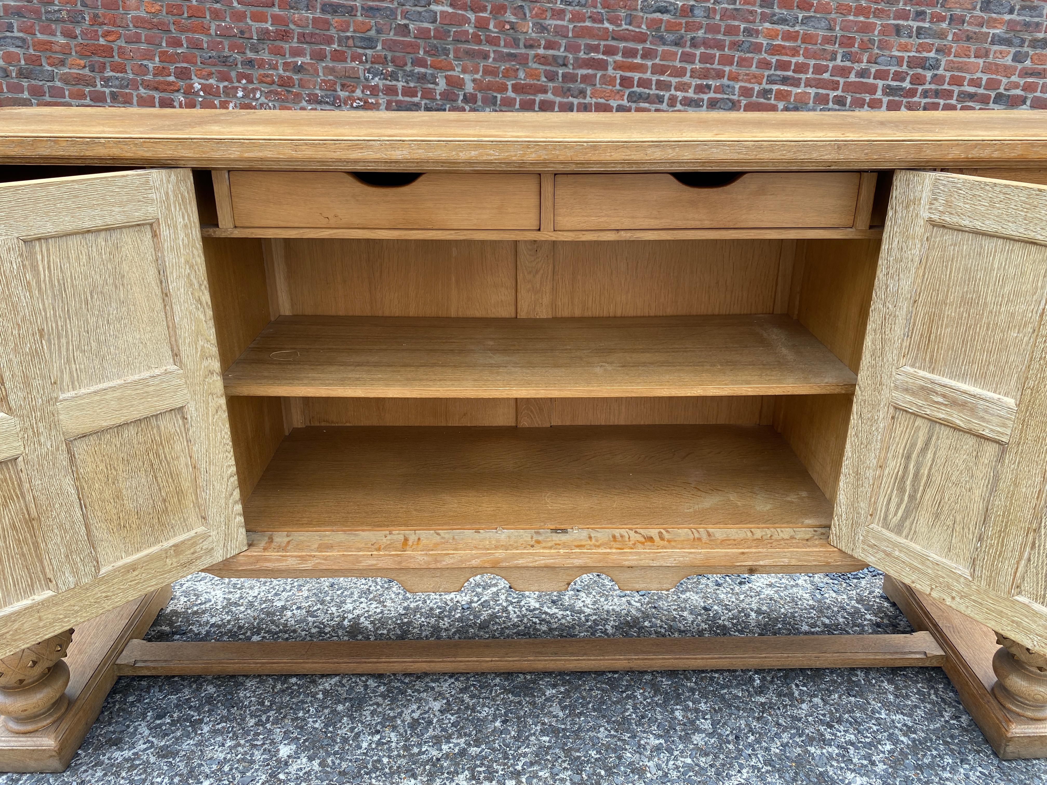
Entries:
{"label": "left wooden drawer front with a scooped finger cut-out", "polygon": [[541,194],[538,175],[444,172],[230,172],[229,188],[237,226],[352,229],[537,229]]}

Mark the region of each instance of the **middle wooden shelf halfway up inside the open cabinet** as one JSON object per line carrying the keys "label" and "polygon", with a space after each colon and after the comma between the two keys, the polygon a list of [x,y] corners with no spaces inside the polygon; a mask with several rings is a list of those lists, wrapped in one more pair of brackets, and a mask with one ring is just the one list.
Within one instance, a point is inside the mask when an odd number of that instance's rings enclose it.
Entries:
{"label": "middle wooden shelf halfway up inside the open cabinet", "polygon": [[852,392],[781,314],[575,319],[281,316],[225,373],[233,396],[592,398]]}

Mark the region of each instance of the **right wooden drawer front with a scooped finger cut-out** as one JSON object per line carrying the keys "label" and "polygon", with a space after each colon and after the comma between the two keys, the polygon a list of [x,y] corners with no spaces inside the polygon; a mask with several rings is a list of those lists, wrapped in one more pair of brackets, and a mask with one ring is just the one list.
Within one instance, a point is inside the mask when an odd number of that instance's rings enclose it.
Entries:
{"label": "right wooden drawer front with a scooped finger cut-out", "polygon": [[[557,175],[555,228],[848,227],[854,223],[861,177],[857,172],[750,172],[727,184],[703,186],[669,174]],[[700,182],[700,176],[691,179]]]}

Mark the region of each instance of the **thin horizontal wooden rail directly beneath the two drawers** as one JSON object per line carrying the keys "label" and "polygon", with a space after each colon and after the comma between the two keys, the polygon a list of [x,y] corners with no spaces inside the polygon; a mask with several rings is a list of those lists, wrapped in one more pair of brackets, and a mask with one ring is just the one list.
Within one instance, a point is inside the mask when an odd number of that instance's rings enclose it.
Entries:
{"label": "thin horizontal wooden rail directly beneath the two drawers", "polygon": [[729,229],[328,229],[315,226],[243,226],[222,229],[202,226],[205,238],[298,238],[341,240],[531,240],[592,242],[595,240],[781,240],[812,238],[821,240],[874,240],[883,230],[820,229],[817,227],[778,227],[774,229],[735,227]]}

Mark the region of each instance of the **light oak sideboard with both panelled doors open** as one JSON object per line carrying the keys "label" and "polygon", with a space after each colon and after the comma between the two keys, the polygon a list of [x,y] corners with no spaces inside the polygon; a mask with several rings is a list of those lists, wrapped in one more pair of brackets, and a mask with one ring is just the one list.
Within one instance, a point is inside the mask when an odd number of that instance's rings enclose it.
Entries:
{"label": "light oak sideboard with both panelled doors open", "polygon": [[[0,770],[120,674],[943,667],[1047,756],[1047,114],[0,109]],[[914,633],[140,640],[869,564]]]}

